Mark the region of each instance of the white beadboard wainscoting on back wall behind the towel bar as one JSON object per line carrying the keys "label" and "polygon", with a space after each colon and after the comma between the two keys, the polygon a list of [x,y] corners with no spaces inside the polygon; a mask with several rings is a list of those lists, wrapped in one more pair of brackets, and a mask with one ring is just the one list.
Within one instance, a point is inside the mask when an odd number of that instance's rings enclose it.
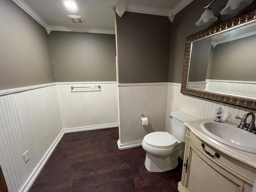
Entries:
{"label": "white beadboard wainscoting on back wall behind the towel bar", "polygon": [[118,126],[116,82],[57,82],[56,87],[65,132]]}

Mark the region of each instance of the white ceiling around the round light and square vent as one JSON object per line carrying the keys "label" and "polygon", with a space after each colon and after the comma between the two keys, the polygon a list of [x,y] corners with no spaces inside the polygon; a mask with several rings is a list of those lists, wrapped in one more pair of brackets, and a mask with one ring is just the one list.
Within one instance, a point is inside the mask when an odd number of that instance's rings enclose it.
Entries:
{"label": "white ceiling around the round light and square vent", "polygon": [[[76,29],[100,29],[114,32],[114,6],[117,0],[74,0],[78,5],[76,12],[68,11],[64,0],[14,0],[17,4],[27,4],[47,26],[60,26]],[[192,0],[125,0],[126,4],[146,6],[156,9],[173,10],[179,3]],[[21,3],[20,3],[21,2]],[[185,5],[186,6],[186,5]],[[33,12],[32,11],[32,12]],[[31,12],[31,11],[30,11]],[[136,12],[136,11],[134,11]],[[80,15],[84,23],[73,23],[68,15]]]}

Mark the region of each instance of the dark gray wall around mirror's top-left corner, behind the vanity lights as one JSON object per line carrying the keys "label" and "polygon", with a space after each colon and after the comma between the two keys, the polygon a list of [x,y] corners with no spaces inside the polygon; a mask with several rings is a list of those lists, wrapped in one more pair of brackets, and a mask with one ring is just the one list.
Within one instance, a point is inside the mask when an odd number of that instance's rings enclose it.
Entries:
{"label": "dark gray wall around mirror's top-left corner, behind the vanity lights", "polygon": [[[195,23],[204,11],[203,7],[208,5],[211,1],[212,0],[194,0],[178,14],[176,14],[174,21],[172,22],[169,82],[181,82],[186,37],[209,27],[198,27],[195,25]],[[234,16],[221,16],[218,14],[226,5],[226,2],[227,0],[216,1],[211,6],[212,11],[218,15],[218,20],[215,24]],[[242,12],[255,7],[256,1],[254,1],[246,9],[242,10]]]}

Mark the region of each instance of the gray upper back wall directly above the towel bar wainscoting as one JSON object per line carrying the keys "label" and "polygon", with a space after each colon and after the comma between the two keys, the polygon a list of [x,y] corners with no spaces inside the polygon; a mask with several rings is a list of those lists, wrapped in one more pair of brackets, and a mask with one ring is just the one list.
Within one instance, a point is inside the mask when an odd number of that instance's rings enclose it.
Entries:
{"label": "gray upper back wall directly above the towel bar wainscoting", "polygon": [[50,33],[56,82],[116,81],[115,35]]}

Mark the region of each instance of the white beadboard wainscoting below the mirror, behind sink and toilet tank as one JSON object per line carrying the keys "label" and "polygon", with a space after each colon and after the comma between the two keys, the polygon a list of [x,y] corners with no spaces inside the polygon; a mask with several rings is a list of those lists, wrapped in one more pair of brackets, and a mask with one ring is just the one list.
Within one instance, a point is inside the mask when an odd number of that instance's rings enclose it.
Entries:
{"label": "white beadboard wainscoting below the mirror, behind sink and toilet tank", "polygon": [[[171,112],[181,111],[197,119],[213,118],[218,108],[219,102],[206,100],[194,96],[188,96],[180,93],[181,84],[168,83],[168,97],[167,97],[167,110],[166,110],[166,131],[172,132],[172,119],[170,118]],[[248,112],[256,111],[236,107],[222,103],[224,110],[223,118],[235,124],[239,124],[240,120],[235,116],[243,117]]]}

